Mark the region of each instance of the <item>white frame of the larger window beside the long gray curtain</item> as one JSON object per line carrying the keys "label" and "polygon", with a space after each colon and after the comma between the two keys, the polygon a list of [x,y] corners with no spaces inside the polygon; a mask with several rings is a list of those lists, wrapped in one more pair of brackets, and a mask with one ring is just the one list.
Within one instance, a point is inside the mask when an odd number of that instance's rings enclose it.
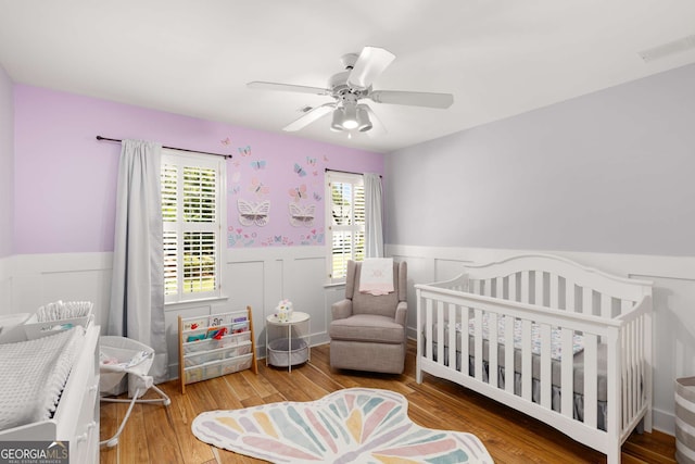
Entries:
{"label": "white frame of the larger window beside the long gray curtain", "polygon": [[[164,184],[162,184],[160,191],[162,195],[162,233],[163,233],[163,248],[162,253],[165,260],[164,265],[164,303],[166,305],[177,304],[177,303],[187,303],[210,299],[218,299],[223,298],[223,281],[224,281],[224,261],[225,261],[225,252],[226,252],[226,241],[224,237],[224,231],[227,230],[227,196],[226,196],[226,179],[227,179],[227,170],[226,170],[226,160],[220,156],[204,154],[204,153],[181,153],[180,151],[175,151],[173,149],[162,149],[162,160],[161,160],[161,170],[163,179],[165,173],[166,165],[175,165],[177,166],[177,192],[176,192],[176,215],[177,220],[166,221],[165,212],[164,212]],[[210,168],[215,171],[216,176],[216,191],[215,191],[215,221],[213,222],[187,222],[184,221],[184,197],[181,196],[184,185],[181,184],[184,177],[185,167],[199,167],[199,168]],[[166,293],[166,272],[167,272],[167,233],[176,234],[177,246],[175,247],[176,251],[176,291],[174,293]],[[211,291],[184,291],[185,288],[185,276],[184,276],[184,242],[182,237],[186,233],[212,233],[213,234],[213,242],[215,247],[215,263],[214,263],[214,277],[215,284],[214,288]]]}

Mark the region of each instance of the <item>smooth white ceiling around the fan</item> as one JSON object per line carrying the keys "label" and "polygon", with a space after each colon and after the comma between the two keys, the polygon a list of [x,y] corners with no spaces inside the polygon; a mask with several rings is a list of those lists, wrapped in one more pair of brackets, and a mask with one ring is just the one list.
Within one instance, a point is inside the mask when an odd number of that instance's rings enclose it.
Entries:
{"label": "smooth white ceiling around the fan", "polygon": [[[279,133],[329,97],[340,57],[383,47],[375,89],[450,92],[448,110],[371,103],[380,137],[300,137],[388,152],[695,62],[692,0],[0,0],[0,63],[15,83]],[[694,42],[695,45],[695,42]],[[118,136],[118,135],[114,135]]]}

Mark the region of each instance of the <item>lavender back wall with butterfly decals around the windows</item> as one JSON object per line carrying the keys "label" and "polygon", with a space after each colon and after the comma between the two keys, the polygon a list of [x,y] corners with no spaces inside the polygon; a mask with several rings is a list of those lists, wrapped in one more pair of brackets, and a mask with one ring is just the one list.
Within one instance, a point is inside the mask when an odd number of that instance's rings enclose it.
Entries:
{"label": "lavender back wall with butterfly decals around the windows", "polygon": [[[228,247],[324,244],[324,170],[383,172],[380,153],[25,85],[14,93],[16,254],[113,250],[121,147],[97,135],[232,154]],[[269,200],[269,224],[242,226],[238,199]],[[292,225],[290,203],[314,205],[314,224]]]}

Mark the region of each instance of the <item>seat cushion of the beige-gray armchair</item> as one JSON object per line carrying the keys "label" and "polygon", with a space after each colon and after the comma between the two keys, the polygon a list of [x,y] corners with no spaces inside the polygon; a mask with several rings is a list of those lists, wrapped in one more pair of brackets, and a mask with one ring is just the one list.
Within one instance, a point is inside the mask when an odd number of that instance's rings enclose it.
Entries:
{"label": "seat cushion of the beige-gray armchair", "polygon": [[403,343],[405,327],[393,317],[377,314],[355,314],[330,323],[328,334],[333,340]]}

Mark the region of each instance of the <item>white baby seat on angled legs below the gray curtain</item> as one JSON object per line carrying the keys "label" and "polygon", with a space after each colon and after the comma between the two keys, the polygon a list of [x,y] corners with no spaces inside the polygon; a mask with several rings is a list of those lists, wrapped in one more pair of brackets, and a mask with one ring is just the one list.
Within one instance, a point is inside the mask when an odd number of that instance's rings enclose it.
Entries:
{"label": "white baby seat on angled legs below the gray curtain", "polygon": [[[118,444],[118,436],[128,422],[135,403],[162,403],[168,406],[172,400],[154,385],[153,378],[148,375],[154,359],[154,350],[152,348],[139,341],[116,336],[102,336],[99,342],[101,401],[130,403],[116,434],[99,443],[111,448]],[[128,391],[131,399],[109,398],[109,394],[119,393],[118,386],[126,375],[128,375]],[[141,399],[149,389],[155,391],[161,398]]]}

